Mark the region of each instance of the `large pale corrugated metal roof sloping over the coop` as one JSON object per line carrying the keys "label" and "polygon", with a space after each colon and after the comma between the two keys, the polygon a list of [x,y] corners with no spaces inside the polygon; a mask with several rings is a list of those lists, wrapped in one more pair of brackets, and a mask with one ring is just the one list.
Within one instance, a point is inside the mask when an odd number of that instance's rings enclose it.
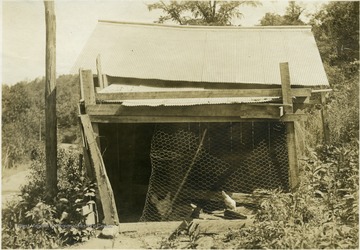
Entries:
{"label": "large pale corrugated metal roof sloping over the coop", "polygon": [[328,85],[308,26],[203,27],[99,21],[73,71],[190,82],[280,84],[289,62],[292,85]]}

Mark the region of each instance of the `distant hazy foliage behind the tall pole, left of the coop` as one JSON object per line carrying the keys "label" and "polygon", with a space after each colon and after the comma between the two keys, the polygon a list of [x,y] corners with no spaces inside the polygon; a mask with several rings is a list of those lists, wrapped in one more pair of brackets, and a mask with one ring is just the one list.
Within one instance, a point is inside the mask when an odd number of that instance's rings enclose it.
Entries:
{"label": "distant hazy foliage behind the tall pole, left of the coop", "polygon": [[[2,86],[2,158],[3,166],[12,167],[36,157],[45,138],[44,79]],[[78,76],[57,79],[57,121],[59,141],[74,143],[79,136],[77,103]]]}

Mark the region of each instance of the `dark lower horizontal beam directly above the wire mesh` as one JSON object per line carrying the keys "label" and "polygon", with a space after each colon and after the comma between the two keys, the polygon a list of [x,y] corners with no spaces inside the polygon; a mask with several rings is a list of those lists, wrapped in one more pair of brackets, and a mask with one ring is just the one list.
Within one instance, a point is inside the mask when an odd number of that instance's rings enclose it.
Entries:
{"label": "dark lower horizontal beam directly above the wire mesh", "polygon": [[125,107],[118,104],[87,106],[92,122],[98,123],[161,123],[161,122],[240,122],[249,120],[295,121],[302,114],[281,116],[278,106],[253,106],[246,104],[175,106],[175,107]]}

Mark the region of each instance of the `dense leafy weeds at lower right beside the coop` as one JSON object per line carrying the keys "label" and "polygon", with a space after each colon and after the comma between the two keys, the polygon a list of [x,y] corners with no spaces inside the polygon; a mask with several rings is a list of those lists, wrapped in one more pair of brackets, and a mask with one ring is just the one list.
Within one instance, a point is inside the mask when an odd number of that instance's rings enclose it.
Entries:
{"label": "dense leafy weeds at lower right beside the coop", "polygon": [[313,151],[302,164],[300,187],[267,191],[254,225],[232,232],[231,240],[250,249],[357,249],[358,163],[357,142]]}

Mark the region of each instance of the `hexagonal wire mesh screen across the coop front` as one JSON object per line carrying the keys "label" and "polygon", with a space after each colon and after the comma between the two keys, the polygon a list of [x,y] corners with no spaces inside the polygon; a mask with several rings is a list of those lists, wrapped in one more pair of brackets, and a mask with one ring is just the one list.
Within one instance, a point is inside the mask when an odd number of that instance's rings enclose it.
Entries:
{"label": "hexagonal wire mesh screen across the coop front", "polygon": [[159,124],[140,220],[185,219],[194,206],[222,209],[221,191],[287,190],[287,156],[283,123]]}

